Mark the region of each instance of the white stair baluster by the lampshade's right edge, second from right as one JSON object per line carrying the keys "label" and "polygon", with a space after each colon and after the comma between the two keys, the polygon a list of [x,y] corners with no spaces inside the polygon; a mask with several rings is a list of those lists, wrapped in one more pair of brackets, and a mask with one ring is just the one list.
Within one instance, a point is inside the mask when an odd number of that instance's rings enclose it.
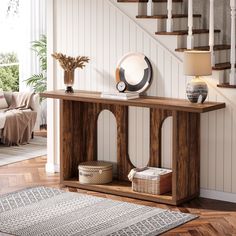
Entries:
{"label": "white stair baluster by the lampshade's right edge, second from right", "polygon": [[211,51],[211,65],[215,66],[214,53],[214,0],[210,0],[210,20],[209,20],[209,48]]}

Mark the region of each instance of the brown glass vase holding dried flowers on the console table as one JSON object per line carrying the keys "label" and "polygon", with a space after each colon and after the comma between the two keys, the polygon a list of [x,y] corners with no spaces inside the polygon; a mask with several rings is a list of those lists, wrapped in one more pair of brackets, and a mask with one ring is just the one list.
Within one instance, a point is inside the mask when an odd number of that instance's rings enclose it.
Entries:
{"label": "brown glass vase holding dried flowers on the console table", "polygon": [[52,57],[59,61],[61,67],[64,69],[64,84],[66,86],[66,93],[73,93],[75,69],[83,69],[85,63],[89,62],[89,58],[85,56],[70,57],[62,53],[53,53]]}

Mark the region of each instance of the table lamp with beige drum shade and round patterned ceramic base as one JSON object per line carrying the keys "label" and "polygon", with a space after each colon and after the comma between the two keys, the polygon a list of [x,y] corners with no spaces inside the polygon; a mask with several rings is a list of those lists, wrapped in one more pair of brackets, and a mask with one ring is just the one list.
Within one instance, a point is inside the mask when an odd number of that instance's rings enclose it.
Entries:
{"label": "table lamp with beige drum shade and round patterned ceramic base", "polygon": [[194,76],[187,84],[186,93],[190,102],[203,103],[208,94],[207,84],[201,76],[212,74],[210,51],[185,51],[184,74]]}

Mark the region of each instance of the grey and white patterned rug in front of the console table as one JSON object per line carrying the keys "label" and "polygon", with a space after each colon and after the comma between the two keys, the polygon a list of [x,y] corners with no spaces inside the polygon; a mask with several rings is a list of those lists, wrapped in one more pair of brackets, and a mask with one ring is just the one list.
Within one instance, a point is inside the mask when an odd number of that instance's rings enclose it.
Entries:
{"label": "grey and white patterned rug in front of the console table", "polygon": [[0,197],[0,232],[13,235],[154,236],[195,218],[46,187]]}

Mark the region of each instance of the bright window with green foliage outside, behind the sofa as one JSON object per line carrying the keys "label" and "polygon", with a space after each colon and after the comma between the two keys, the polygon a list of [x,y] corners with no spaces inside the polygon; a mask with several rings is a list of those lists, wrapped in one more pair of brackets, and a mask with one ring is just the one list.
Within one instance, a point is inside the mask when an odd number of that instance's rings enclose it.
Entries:
{"label": "bright window with green foliage outside, behind the sofa", "polygon": [[19,90],[19,0],[0,2],[0,90]]}

